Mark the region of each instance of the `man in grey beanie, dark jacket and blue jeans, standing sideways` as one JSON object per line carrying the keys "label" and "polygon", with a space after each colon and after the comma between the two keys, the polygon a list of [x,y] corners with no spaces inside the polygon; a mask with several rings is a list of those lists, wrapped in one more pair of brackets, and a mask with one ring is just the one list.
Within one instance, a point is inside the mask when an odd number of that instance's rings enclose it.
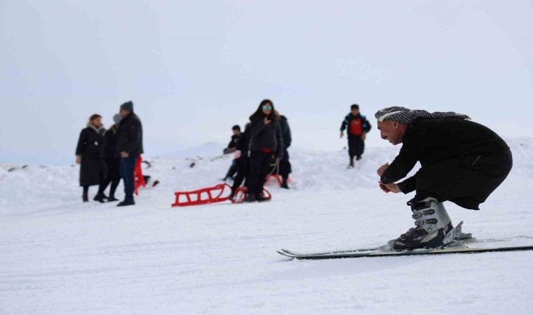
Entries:
{"label": "man in grey beanie, dark jacket and blue jeans, standing sideways", "polygon": [[119,130],[116,132],[116,153],[121,157],[121,177],[124,180],[126,197],[119,207],[135,204],[133,192],[135,190],[135,164],[139,156],[144,153],[142,148],[142,123],[133,113],[133,102],[126,102],[120,107],[122,116]]}

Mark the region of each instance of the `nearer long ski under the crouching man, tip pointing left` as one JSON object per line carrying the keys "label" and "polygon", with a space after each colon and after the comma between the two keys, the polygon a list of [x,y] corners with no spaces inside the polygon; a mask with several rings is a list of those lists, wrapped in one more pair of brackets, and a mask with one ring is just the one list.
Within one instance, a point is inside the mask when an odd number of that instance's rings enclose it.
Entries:
{"label": "nearer long ski under the crouching man, tip pointing left", "polygon": [[[373,248],[372,248],[373,249]],[[296,258],[298,260],[317,260],[317,259],[335,259],[335,258],[362,258],[362,257],[389,257],[389,256],[409,256],[409,255],[442,255],[451,253],[491,253],[491,252],[504,252],[504,251],[533,251],[533,245],[531,246],[514,246],[514,247],[489,247],[489,248],[431,248],[431,249],[416,249],[413,251],[344,251],[344,252],[332,252],[332,253],[309,253],[309,254],[297,254],[291,251],[281,249],[278,251],[281,255],[289,258]]]}

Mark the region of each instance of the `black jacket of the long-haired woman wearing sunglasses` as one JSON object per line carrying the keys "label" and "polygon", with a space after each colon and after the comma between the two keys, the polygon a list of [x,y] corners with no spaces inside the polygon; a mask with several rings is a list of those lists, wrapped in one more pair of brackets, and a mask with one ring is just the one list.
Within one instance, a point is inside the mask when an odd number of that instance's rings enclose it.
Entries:
{"label": "black jacket of the long-haired woman wearing sunglasses", "polygon": [[264,124],[264,116],[252,120],[250,123],[250,151],[260,149],[272,150],[276,158],[283,156],[283,141],[281,128],[277,120]]}

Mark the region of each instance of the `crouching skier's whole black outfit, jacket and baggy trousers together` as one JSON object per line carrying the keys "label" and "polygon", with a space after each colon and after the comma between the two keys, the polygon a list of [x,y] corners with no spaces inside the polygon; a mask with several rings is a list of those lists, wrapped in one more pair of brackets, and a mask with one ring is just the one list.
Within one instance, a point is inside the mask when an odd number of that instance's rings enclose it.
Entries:
{"label": "crouching skier's whole black outfit, jacket and baggy trousers together", "polygon": [[417,190],[417,195],[476,210],[513,165],[509,147],[495,132],[457,118],[414,120],[403,136],[400,154],[381,181],[403,179],[417,162],[421,164],[419,172],[398,183],[403,193]]}

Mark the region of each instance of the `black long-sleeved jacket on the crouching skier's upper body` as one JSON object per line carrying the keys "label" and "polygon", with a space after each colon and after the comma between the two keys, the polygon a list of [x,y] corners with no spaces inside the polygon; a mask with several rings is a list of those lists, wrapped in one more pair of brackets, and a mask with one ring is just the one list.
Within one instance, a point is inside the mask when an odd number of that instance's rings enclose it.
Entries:
{"label": "black long-sleeved jacket on the crouching skier's upper body", "polygon": [[[417,162],[422,167],[450,159],[475,162],[479,155],[506,154],[508,148],[495,132],[469,120],[417,119],[407,126],[400,153],[385,170],[381,181],[394,183],[403,179]],[[417,174],[398,183],[403,193],[416,189]]]}

